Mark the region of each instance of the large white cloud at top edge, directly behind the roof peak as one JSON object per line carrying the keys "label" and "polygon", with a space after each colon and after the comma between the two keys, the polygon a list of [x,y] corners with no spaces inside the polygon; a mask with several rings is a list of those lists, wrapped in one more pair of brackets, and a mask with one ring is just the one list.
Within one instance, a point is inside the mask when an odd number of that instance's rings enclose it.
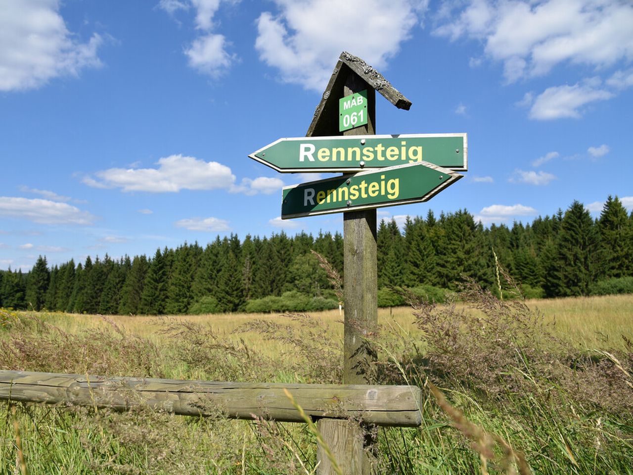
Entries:
{"label": "large white cloud at top edge, directly behind the roof peak", "polygon": [[415,0],[275,0],[261,13],[255,47],[284,82],[322,91],[341,51],[376,68],[398,53],[427,2]]}

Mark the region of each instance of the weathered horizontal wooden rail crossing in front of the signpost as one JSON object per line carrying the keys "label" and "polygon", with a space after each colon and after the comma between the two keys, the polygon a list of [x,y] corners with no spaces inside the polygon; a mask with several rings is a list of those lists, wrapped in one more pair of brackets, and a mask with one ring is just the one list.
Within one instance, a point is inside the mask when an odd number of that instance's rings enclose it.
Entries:
{"label": "weathered horizontal wooden rail crossing in front of the signpost", "polygon": [[253,414],[304,422],[284,395],[292,393],[315,419],[359,418],[379,426],[417,427],[420,388],[334,384],[216,383],[177,379],[0,371],[0,400],[79,405],[125,411],[146,406],[180,415],[253,419]]}

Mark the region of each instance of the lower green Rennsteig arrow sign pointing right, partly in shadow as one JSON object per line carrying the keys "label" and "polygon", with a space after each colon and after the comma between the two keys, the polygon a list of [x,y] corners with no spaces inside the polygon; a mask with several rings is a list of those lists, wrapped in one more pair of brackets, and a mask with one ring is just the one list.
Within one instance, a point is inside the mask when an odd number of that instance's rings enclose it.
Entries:
{"label": "lower green Rennsteig arrow sign pointing right, partly in shadow", "polygon": [[463,175],[429,162],[286,186],[282,219],[427,201]]}

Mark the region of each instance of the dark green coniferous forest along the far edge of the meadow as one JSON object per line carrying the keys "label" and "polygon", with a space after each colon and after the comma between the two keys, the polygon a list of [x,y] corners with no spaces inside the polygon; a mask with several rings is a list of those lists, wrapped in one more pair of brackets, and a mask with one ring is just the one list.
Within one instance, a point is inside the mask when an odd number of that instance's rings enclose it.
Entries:
{"label": "dark green coniferous forest along the far edge of the meadow", "polygon": [[[466,210],[407,219],[403,232],[394,220],[382,221],[377,245],[384,290],[404,286],[431,295],[429,289],[455,289],[464,276],[494,289],[496,256],[528,297],[633,292],[633,212],[617,197],[595,220],[574,201],[565,212],[511,227],[484,227]],[[206,246],[184,243],[151,256],[87,257],[52,268],[39,257],[27,273],[0,270],[0,307],[153,315],[337,307],[311,250],[342,275],[343,239],[329,232],[243,240],[231,234]],[[279,307],[284,299],[296,308]]]}

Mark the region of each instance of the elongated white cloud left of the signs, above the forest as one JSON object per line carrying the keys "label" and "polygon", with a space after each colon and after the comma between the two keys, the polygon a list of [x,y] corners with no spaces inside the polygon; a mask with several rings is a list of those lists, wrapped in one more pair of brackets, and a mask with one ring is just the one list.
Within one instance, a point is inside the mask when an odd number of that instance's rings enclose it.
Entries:
{"label": "elongated white cloud left of the signs, above the forest", "polygon": [[94,174],[99,181],[91,177],[84,177],[82,181],[92,187],[153,193],[222,189],[231,187],[235,182],[231,169],[218,162],[170,155],[160,158],[157,164],[158,168],[109,168]]}

